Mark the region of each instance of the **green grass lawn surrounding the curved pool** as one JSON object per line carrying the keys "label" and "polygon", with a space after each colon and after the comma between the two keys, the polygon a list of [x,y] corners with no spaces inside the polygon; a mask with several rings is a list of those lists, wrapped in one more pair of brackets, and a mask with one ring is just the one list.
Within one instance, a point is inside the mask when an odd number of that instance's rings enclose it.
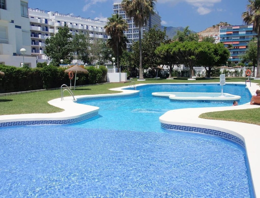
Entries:
{"label": "green grass lawn surrounding the curved pool", "polygon": [[[226,82],[245,82],[247,78],[227,77]],[[187,78],[177,78],[174,80],[167,79],[146,79],[146,81],[136,81],[135,84],[141,83],[209,83],[219,82],[219,78],[204,79],[197,78],[196,81],[188,81]],[[259,80],[251,80],[251,82],[259,83]],[[72,92],[75,96],[78,95],[93,95],[93,94],[112,94],[118,93],[117,91],[111,91],[108,89],[128,86],[129,82],[120,83],[105,83],[100,85],[89,85],[84,87],[77,87]],[[64,92],[64,97],[70,96],[67,91]],[[60,89],[56,90],[44,90],[38,92],[32,92],[27,94],[18,94],[11,96],[0,97],[0,115],[10,114],[30,114],[30,113],[55,113],[61,112],[63,109],[54,107],[48,103],[48,101],[60,98]],[[260,125],[259,121],[260,109],[245,109],[245,110],[231,110],[220,112],[210,112],[200,115],[202,118],[213,120],[228,120],[245,122]]]}

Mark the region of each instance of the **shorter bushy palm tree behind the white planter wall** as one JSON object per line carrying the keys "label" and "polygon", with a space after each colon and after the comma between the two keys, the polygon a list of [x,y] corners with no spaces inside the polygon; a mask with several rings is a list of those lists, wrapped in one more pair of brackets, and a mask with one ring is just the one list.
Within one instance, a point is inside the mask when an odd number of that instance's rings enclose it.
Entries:
{"label": "shorter bushy palm tree behind the white planter wall", "polygon": [[[109,41],[110,46],[113,47],[113,50],[117,57],[117,68],[119,72],[119,57],[120,57],[120,50],[122,51],[122,45],[120,44],[125,42],[124,32],[128,30],[128,24],[123,19],[122,16],[119,16],[118,14],[112,15],[112,17],[108,17],[108,22],[104,27],[106,29],[106,33],[110,35],[111,39]],[[116,50],[116,51],[115,51]],[[121,53],[122,54],[122,53]]]}

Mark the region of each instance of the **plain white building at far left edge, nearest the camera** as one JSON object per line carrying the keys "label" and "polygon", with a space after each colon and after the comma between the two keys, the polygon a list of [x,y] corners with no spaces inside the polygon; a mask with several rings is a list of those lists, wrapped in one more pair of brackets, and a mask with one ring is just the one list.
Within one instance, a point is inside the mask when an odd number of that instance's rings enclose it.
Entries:
{"label": "plain white building at far left edge, nearest the camera", "polygon": [[[22,55],[20,49],[26,50]],[[23,61],[24,58],[24,61]],[[0,63],[36,67],[31,55],[28,0],[0,0]]]}

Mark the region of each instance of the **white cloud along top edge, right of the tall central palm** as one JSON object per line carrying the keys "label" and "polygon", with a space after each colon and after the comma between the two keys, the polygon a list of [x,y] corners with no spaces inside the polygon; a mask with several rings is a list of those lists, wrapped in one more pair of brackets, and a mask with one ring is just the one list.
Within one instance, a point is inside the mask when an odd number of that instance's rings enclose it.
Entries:
{"label": "white cloud along top edge, right of the tall central palm", "polygon": [[176,5],[177,3],[184,1],[197,8],[197,12],[200,15],[209,14],[212,11],[212,7],[215,3],[220,3],[222,0],[158,0],[158,3],[170,3]]}

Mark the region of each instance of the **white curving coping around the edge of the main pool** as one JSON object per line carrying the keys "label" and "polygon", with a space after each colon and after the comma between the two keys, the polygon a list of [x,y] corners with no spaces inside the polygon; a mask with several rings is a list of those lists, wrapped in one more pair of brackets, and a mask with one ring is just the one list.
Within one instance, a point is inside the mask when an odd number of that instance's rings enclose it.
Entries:
{"label": "white curving coping around the edge of the main pool", "polygon": [[[233,82],[226,84],[244,84],[245,82]],[[157,83],[157,84],[200,84],[200,83]],[[201,84],[219,84],[219,83],[201,83]],[[138,84],[136,86],[142,86],[147,84]],[[249,84],[248,84],[249,85]],[[137,93],[136,90],[124,90],[129,86],[114,88],[111,90],[122,91],[118,94],[100,94],[100,95],[83,95],[75,96],[78,98],[84,97],[97,97],[97,96],[118,96],[128,95]],[[259,89],[257,83],[251,83],[251,87],[248,87],[252,95],[255,94],[256,89]],[[85,104],[75,103],[72,97],[57,98],[48,102],[55,107],[64,109],[64,111],[52,114],[19,114],[19,115],[1,115],[0,123],[12,122],[12,121],[35,121],[35,120],[62,120],[77,118],[82,115],[86,115],[99,110],[99,107],[89,106]],[[192,127],[201,127],[224,131],[226,133],[233,134],[245,142],[246,154],[249,161],[252,185],[254,187],[255,197],[260,197],[260,126],[255,124],[246,124],[240,122],[230,121],[219,121],[219,120],[206,120],[199,118],[198,116],[202,113],[212,111],[223,111],[223,110],[234,110],[234,109],[249,109],[259,108],[260,105],[250,105],[249,103],[230,106],[230,107],[210,107],[210,108],[187,108],[187,109],[176,109],[167,111],[164,115],[160,116],[159,120],[161,123],[172,124],[172,125],[183,125]],[[158,126],[160,127],[160,126]]]}

